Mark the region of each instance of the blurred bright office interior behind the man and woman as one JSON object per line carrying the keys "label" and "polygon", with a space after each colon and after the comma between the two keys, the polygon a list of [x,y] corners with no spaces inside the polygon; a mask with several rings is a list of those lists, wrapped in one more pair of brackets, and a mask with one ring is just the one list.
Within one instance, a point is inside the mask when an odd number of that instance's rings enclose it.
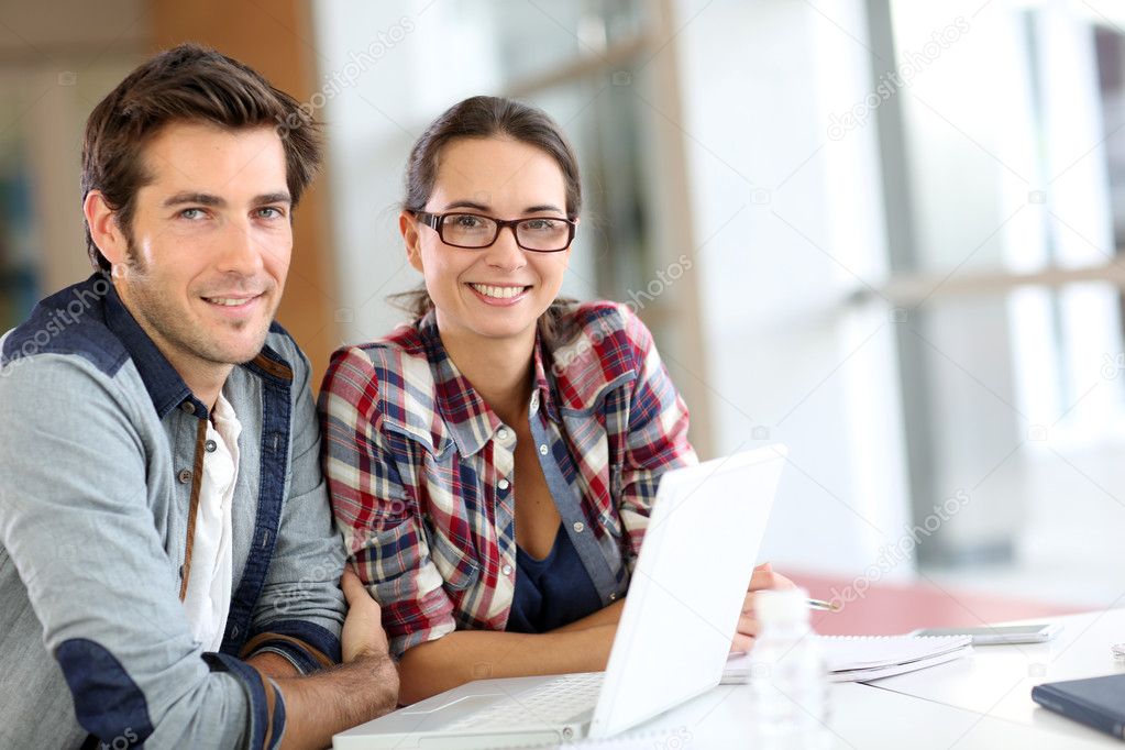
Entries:
{"label": "blurred bright office interior behind the man and woman", "polygon": [[826,629],[1125,596],[1122,3],[2,0],[0,329],[90,273],[84,119],[183,40],[326,124],[280,314],[315,378],[418,283],[411,144],[518,97],[582,159],[565,291],[648,323],[702,458],[790,446],[762,557],[866,613]]}

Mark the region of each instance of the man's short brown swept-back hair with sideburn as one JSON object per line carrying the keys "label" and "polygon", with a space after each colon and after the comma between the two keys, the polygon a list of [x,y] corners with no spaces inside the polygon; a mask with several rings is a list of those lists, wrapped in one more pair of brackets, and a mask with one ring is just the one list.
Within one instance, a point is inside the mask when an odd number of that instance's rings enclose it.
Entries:
{"label": "man's short brown swept-back hair with sideburn", "polygon": [[[154,56],[102,99],[86,123],[82,139],[82,200],[100,190],[129,234],[137,190],[152,180],[144,147],[170,123],[209,123],[225,129],[273,125],[286,156],[286,182],[294,205],[321,165],[321,132],[289,94],[256,71],[196,44]],[[94,269],[109,270],[86,226]]]}

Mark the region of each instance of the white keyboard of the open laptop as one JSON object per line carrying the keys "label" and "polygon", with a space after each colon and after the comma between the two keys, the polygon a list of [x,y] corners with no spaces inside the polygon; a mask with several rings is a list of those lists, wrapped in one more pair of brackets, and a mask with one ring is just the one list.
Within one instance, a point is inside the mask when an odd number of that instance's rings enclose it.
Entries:
{"label": "white keyboard of the open laptop", "polygon": [[604,672],[561,675],[524,693],[501,698],[447,730],[565,724],[597,705]]}

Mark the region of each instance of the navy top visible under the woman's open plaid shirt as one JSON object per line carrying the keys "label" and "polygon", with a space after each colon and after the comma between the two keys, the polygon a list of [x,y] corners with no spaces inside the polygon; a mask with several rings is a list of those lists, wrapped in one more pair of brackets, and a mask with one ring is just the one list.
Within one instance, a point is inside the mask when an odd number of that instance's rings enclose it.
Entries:
{"label": "navy top visible under the woman's open plaid shirt", "polygon": [[537,560],[522,546],[515,551],[515,594],[506,630],[512,633],[546,633],[568,625],[602,608],[594,581],[562,525],[555,545]]}

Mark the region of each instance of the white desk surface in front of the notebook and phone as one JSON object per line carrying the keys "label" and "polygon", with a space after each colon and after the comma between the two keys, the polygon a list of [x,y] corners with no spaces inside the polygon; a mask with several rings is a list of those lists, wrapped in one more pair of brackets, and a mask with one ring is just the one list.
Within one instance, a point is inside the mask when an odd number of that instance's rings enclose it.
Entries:
{"label": "white desk surface in front of the notebook and phone", "polygon": [[[1055,620],[1063,631],[1050,643],[976,647],[971,657],[909,675],[834,685],[827,747],[1123,750],[1108,734],[1036,705],[1032,687],[1125,671],[1109,652],[1110,644],[1125,642],[1125,609]],[[592,747],[746,748],[752,716],[748,688],[719,687],[615,742]]]}

